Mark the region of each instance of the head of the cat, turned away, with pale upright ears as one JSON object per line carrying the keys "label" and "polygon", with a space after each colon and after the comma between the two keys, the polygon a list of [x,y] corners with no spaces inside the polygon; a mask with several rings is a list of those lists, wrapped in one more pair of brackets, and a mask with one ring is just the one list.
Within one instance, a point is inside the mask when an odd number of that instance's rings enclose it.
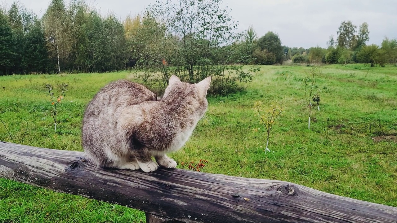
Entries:
{"label": "head of the cat, turned away, with pale upright ears", "polygon": [[210,84],[211,77],[190,84],[181,82],[177,76],[172,75],[162,100],[183,109],[189,115],[196,115],[197,118],[201,118],[208,107],[206,95]]}

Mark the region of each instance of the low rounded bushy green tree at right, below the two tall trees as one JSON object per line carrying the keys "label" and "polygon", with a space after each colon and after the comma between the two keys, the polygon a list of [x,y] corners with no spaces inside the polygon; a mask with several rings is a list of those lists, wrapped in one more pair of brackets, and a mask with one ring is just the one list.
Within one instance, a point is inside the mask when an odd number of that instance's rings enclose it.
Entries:
{"label": "low rounded bushy green tree at right, below the two tall trees", "polygon": [[376,44],[363,46],[357,53],[357,59],[360,63],[369,63],[371,67],[376,64],[382,66],[386,62],[384,50],[380,49]]}

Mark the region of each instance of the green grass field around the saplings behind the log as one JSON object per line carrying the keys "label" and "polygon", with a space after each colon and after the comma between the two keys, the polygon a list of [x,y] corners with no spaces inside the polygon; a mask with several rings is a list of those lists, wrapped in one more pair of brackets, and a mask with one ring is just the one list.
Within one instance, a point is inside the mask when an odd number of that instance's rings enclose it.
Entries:
{"label": "green grass field around the saplings behind the log", "polygon": [[[321,109],[312,113],[311,130],[303,85],[310,67],[264,66],[245,84],[245,92],[209,97],[209,122],[200,121],[191,140],[171,156],[178,164],[208,160],[203,170],[208,173],[289,181],[397,207],[397,67],[319,69],[314,87],[320,91]],[[16,143],[81,151],[85,105],[106,83],[130,76],[118,72],[0,77],[0,118]],[[55,133],[45,85],[52,84],[57,92],[62,83],[69,90]],[[252,110],[258,100],[282,100],[285,110],[270,135],[272,152],[266,154],[266,130]],[[12,141],[2,124],[0,140]],[[143,220],[141,211],[0,179],[0,222]]]}

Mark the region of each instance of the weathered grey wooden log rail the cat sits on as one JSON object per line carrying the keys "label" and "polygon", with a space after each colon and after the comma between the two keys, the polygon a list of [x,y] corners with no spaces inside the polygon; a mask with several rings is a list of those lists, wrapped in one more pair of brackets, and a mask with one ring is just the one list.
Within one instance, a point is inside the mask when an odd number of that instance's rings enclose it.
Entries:
{"label": "weathered grey wooden log rail the cat sits on", "polygon": [[397,208],[284,181],[97,169],[83,152],[0,142],[0,177],[185,223],[396,223]]}

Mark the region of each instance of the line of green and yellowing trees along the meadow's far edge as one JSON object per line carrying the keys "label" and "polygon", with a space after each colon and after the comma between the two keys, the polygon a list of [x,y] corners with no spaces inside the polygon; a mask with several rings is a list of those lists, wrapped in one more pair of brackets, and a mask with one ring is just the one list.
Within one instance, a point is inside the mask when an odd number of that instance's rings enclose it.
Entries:
{"label": "line of green and yellowing trees along the meadow's far edge", "polygon": [[84,0],[52,0],[42,17],[14,2],[0,10],[0,75],[136,68],[158,72],[161,85],[171,73],[194,82],[208,73],[222,79],[227,71],[237,73],[235,81],[249,81],[250,73],[236,64],[397,62],[396,39],[366,45],[367,23],[357,28],[343,21],[328,48],[290,48],[272,31],[262,37],[253,27],[237,33],[237,22],[220,3],[159,1],[119,20],[100,15]]}

